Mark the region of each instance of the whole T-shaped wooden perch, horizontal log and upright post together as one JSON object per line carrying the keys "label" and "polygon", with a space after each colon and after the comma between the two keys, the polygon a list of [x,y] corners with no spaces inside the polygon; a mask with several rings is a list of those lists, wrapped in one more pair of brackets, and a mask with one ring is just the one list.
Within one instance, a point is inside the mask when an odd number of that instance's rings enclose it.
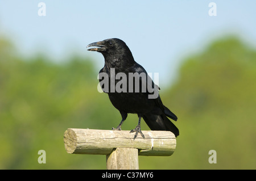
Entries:
{"label": "whole T-shaped wooden perch, horizontal log and upright post together", "polygon": [[139,169],[138,155],[169,156],[176,148],[170,131],[142,131],[134,140],[130,131],[69,128],[65,150],[71,154],[105,154],[107,169]]}

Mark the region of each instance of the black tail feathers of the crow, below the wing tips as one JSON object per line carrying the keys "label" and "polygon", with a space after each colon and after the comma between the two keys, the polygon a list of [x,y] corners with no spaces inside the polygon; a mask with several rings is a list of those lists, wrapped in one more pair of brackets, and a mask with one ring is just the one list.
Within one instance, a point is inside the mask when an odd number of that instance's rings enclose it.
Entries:
{"label": "black tail feathers of the crow, below the wing tips", "polygon": [[169,116],[147,113],[142,117],[152,131],[171,131],[175,137],[179,136],[179,129],[168,119]]}

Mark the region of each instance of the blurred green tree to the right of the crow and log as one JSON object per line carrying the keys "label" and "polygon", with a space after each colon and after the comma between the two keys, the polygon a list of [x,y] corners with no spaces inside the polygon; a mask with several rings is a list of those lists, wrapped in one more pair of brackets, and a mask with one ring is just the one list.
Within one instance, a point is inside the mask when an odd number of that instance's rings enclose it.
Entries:
{"label": "blurred green tree to the right of the crow and log", "polygon": [[168,169],[255,169],[255,49],[236,37],[216,40],[186,58],[178,77],[162,98],[180,129]]}

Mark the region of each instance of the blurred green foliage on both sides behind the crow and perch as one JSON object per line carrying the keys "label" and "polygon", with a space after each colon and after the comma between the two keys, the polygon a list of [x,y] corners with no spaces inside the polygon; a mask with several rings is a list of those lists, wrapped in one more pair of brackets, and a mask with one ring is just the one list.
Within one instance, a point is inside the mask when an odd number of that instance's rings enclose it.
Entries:
{"label": "blurred green foliage on both sides behind the crow and perch", "polygon": [[[18,56],[0,38],[0,169],[106,169],[105,155],[68,154],[63,143],[67,128],[111,129],[121,120],[97,91],[97,74],[89,58],[55,64],[43,54]],[[256,169],[255,79],[256,50],[236,37],[185,58],[177,81],[160,92],[179,117],[176,151],[139,157],[140,169]],[[122,129],[137,121],[129,115]],[[212,149],[216,164],[208,162]]]}

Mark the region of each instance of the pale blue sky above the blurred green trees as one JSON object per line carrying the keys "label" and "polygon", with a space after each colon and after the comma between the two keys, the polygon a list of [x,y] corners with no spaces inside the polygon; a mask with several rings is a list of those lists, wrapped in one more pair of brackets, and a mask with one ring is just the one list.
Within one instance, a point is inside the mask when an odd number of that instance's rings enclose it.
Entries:
{"label": "pale blue sky above the blurred green trees", "polygon": [[[38,3],[46,16],[38,15]],[[217,16],[209,16],[210,2]],[[184,57],[200,52],[212,40],[238,35],[256,42],[256,1],[0,1],[0,35],[14,41],[22,54],[48,54],[65,61],[72,52],[94,58],[89,43],[118,37],[135,60],[150,73],[159,73],[159,85],[173,82]]]}

